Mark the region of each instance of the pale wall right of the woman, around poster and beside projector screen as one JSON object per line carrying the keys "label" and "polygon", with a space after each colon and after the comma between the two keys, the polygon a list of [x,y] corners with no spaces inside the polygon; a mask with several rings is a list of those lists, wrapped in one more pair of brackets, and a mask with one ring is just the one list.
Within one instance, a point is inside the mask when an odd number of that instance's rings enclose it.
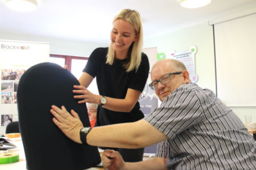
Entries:
{"label": "pale wall right of the woman, around poster and beside projector screen", "polygon": [[[162,36],[144,40],[144,48],[157,47],[158,53],[170,55],[171,50],[176,52],[188,50],[192,45],[197,48],[195,54],[197,84],[209,88],[216,93],[213,28],[208,23],[179,29]],[[152,65],[154,63],[150,63]],[[250,114],[256,122],[255,107],[230,107],[238,117],[245,122],[245,115]]]}

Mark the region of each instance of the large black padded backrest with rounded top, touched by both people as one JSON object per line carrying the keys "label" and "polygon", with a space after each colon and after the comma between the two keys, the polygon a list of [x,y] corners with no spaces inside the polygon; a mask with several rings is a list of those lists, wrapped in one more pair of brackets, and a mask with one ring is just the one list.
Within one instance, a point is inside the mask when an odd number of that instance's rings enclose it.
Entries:
{"label": "large black padded backrest with rounded top, touched by both people", "polygon": [[49,62],[30,67],[20,78],[18,117],[28,169],[85,169],[101,162],[97,147],[73,142],[52,121],[51,105],[64,105],[90,126],[86,105],[73,98],[78,84],[68,70]]}

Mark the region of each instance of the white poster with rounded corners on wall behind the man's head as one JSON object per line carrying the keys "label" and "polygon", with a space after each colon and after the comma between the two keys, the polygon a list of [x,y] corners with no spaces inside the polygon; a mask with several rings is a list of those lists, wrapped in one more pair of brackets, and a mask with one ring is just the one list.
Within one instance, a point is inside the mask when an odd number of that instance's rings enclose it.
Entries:
{"label": "white poster with rounded corners on wall behind the man's head", "polygon": [[195,69],[195,54],[196,54],[196,46],[191,46],[189,50],[184,50],[181,52],[176,52],[175,50],[172,50],[170,53],[169,58],[177,59],[184,63],[186,66],[189,78],[192,83],[196,83],[198,80],[198,76],[196,74]]}

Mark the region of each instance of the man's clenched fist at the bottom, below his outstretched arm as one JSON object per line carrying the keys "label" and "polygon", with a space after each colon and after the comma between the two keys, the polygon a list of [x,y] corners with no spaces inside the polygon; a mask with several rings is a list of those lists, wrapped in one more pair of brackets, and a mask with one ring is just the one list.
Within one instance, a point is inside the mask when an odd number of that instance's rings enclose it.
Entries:
{"label": "man's clenched fist at the bottom, below his outstretched arm", "polygon": [[101,156],[101,162],[104,168],[108,169],[123,169],[125,162],[118,151],[105,150]]}

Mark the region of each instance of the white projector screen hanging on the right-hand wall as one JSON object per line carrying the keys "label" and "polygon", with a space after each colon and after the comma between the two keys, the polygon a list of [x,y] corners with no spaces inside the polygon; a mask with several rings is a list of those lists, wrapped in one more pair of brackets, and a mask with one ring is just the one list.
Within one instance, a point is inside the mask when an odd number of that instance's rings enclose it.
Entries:
{"label": "white projector screen hanging on the right-hand wall", "polygon": [[217,96],[230,107],[256,105],[255,16],[214,24]]}

